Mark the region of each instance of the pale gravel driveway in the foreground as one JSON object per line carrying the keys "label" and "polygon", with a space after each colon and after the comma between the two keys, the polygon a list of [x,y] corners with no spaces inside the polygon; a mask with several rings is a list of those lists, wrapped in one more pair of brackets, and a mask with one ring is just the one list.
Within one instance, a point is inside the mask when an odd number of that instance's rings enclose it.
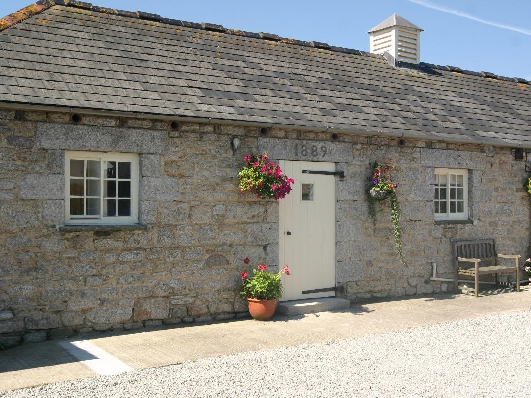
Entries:
{"label": "pale gravel driveway in the foreground", "polygon": [[0,397],[531,397],[530,334],[528,310],[53,383]]}

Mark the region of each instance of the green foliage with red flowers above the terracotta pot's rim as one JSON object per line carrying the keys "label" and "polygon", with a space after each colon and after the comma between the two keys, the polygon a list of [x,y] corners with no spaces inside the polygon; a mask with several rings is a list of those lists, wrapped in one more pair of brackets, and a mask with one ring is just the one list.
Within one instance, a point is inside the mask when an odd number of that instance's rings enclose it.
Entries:
{"label": "green foliage with red flowers above the terracotta pot's rim", "polygon": [[280,281],[280,275],[289,275],[288,266],[279,272],[265,271],[267,266],[259,264],[257,269],[253,269],[253,276],[247,278],[247,272],[242,272],[242,284],[239,288],[239,295],[243,298],[256,298],[270,300],[282,297],[284,285]]}

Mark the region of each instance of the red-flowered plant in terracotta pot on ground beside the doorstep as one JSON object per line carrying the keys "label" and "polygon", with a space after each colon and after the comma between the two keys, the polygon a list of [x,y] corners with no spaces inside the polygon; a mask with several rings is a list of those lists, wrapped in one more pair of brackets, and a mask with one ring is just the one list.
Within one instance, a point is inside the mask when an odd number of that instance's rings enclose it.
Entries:
{"label": "red-flowered plant in terracotta pot on ground beside the doorstep", "polygon": [[[243,261],[249,264],[249,258]],[[239,295],[247,299],[249,313],[256,321],[268,321],[275,314],[276,300],[282,297],[282,273],[289,275],[288,265],[279,272],[269,272],[267,265],[258,264],[253,269],[253,276],[247,271],[242,272],[242,284],[239,287]]]}

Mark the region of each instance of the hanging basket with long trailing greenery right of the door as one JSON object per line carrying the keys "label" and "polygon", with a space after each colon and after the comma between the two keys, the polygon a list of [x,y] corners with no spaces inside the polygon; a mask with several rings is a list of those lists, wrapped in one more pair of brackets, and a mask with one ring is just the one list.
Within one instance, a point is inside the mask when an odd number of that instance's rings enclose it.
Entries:
{"label": "hanging basket with long trailing greenery right of the door", "polygon": [[396,166],[390,166],[390,163],[373,163],[369,184],[367,184],[367,194],[369,195],[369,215],[376,225],[376,203],[390,198],[391,222],[393,225],[393,236],[395,237],[395,246],[397,247],[398,256],[402,264],[404,254],[402,254],[402,231],[400,229],[400,206],[398,204],[397,188],[398,183],[393,183],[391,172],[399,172]]}

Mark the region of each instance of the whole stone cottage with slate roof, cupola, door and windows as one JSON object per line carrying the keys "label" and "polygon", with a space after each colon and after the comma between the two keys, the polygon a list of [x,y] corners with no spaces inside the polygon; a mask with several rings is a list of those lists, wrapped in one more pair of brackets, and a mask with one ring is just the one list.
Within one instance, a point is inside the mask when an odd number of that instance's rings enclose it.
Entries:
{"label": "whole stone cottage with slate roof, cupola, door and windows", "polygon": [[[68,0],[0,20],[0,342],[246,316],[260,262],[290,265],[284,300],[353,302],[454,289],[451,239],[525,255],[530,82],[419,62],[420,31],[393,15],[366,53]],[[295,179],[279,202],[239,192],[259,152]],[[404,263],[374,162],[402,170]]]}

